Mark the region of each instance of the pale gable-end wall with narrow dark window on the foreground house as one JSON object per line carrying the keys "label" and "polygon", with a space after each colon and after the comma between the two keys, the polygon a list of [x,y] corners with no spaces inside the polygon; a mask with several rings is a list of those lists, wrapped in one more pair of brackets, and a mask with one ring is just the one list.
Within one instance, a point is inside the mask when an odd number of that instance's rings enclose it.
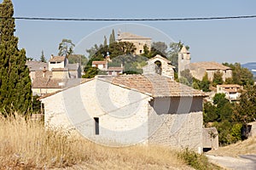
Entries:
{"label": "pale gable-end wall with narrow dark window on the foreground house", "polygon": [[[148,139],[150,99],[146,94],[94,79],[42,99],[45,125],[69,129],[74,125],[86,138],[101,144],[143,142]],[[99,135],[95,134],[94,117],[99,117]]]}

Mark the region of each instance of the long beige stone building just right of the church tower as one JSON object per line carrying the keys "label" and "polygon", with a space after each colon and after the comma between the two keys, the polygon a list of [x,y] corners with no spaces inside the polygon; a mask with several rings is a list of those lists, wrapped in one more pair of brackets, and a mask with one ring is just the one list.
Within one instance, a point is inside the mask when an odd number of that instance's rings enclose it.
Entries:
{"label": "long beige stone building just right of the church tower", "polygon": [[191,75],[198,80],[202,80],[202,77],[207,73],[209,81],[213,80],[215,72],[220,71],[223,74],[223,80],[232,77],[232,69],[228,66],[219,64],[217,62],[197,62],[185,65],[185,69],[189,69]]}

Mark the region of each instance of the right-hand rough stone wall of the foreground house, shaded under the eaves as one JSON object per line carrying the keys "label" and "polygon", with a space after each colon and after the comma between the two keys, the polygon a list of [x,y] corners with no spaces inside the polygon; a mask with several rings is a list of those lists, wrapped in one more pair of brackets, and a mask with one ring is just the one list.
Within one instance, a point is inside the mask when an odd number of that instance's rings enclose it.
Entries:
{"label": "right-hand rough stone wall of the foreground house, shaded under the eaves", "polygon": [[154,99],[149,106],[149,144],[202,150],[202,98]]}

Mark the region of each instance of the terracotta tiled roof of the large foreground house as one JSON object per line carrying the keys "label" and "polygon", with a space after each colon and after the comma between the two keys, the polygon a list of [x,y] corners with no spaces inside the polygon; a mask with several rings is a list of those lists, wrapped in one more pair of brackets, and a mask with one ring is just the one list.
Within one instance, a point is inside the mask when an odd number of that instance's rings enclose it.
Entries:
{"label": "terracotta tiled roof of the large foreground house", "polygon": [[137,90],[143,94],[156,97],[180,97],[180,96],[201,96],[207,94],[190,88],[182,83],[172,81],[160,75],[121,75],[119,77],[98,77],[98,79],[110,82],[122,88]]}

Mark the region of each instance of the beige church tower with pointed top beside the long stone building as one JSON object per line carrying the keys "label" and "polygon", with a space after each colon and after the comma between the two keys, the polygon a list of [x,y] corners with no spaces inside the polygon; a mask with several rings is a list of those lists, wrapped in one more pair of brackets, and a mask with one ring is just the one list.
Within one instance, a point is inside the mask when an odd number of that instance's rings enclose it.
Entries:
{"label": "beige church tower with pointed top beside the long stone building", "polygon": [[190,64],[190,53],[185,46],[180,50],[177,57],[177,75],[180,77],[180,72],[185,70],[185,65]]}

